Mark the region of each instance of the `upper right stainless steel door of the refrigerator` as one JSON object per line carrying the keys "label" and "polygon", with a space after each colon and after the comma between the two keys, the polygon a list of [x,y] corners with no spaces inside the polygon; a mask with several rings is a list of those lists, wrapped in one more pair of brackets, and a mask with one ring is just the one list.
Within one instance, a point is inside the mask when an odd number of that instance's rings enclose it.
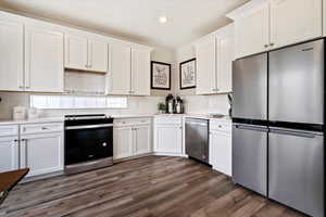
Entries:
{"label": "upper right stainless steel door of the refrigerator", "polygon": [[269,53],[269,120],[324,123],[324,40]]}

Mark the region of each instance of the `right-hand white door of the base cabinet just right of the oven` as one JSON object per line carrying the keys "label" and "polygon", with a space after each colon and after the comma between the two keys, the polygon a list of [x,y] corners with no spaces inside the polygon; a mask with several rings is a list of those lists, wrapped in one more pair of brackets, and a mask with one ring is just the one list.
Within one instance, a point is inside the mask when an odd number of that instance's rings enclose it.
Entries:
{"label": "right-hand white door of the base cabinet just right of the oven", "polygon": [[150,126],[145,125],[137,127],[135,137],[135,155],[148,154],[152,152]]}

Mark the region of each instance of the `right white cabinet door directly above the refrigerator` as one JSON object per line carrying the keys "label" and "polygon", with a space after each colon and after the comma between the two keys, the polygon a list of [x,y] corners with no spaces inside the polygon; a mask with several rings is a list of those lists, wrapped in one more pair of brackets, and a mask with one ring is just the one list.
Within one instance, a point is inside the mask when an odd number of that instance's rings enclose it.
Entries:
{"label": "right white cabinet door directly above the refrigerator", "polygon": [[322,36],[322,0],[272,0],[273,48]]}

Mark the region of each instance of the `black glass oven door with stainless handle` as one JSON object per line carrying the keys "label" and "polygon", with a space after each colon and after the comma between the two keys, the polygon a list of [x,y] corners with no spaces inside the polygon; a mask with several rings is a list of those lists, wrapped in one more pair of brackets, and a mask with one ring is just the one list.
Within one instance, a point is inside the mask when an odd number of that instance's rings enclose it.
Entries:
{"label": "black glass oven door with stainless handle", "polygon": [[112,156],[112,126],[73,126],[65,128],[65,165]]}

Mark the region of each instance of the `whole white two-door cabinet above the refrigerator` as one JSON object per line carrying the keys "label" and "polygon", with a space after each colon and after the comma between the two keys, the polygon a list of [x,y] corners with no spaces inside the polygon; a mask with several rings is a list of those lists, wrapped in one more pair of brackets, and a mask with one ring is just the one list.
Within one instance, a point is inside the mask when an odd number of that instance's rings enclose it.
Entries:
{"label": "whole white two-door cabinet above the refrigerator", "polygon": [[250,1],[227,16],[235,21],[236,58],[322,36],[322,0]]}

